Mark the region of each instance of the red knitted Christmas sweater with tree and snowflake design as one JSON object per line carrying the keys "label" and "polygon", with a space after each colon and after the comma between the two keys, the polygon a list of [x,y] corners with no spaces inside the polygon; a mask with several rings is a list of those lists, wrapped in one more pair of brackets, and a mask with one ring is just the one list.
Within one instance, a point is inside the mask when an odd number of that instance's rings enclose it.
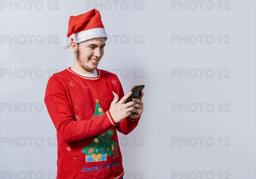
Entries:
{"label": "red knitted Christmas sweater with tree and snowflake design", "polygon": [[57,179],[119,179],[124,175],[117,131],[127,135],[139,118],[116,123],[109,112],[113,93],[124,96],[118,77],[96,69],[87,78],[71,67],[54,73],[44,103],[57,131]]}

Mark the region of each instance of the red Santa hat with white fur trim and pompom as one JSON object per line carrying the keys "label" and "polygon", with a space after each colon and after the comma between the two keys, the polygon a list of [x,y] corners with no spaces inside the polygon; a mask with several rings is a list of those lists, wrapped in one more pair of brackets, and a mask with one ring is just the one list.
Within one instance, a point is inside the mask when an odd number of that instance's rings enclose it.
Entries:
{"label": "red Santa hat with white fur trim and pompom", "polygon": [[63,48],[68,49],[71,41],[80,43],[91,38],[108,39],[99,11],[92,9],[78,16],[70,16],[67,37],[63,42]]}

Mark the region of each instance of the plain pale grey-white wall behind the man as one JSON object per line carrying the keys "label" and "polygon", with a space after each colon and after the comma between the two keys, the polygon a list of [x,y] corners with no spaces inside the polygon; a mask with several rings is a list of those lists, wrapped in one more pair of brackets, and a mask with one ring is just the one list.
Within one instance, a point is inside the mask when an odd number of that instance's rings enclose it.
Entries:
{"label": "plain pale grey-white wall behind the man", "polygon": [[138,126],[118,133],[124,178],[255,179],[254,0],[1,1],[1,178],[56,176],[45,89],[73,64],[69,17],[93,8],[110,37],[98,68],[125,94],[145,85]]}

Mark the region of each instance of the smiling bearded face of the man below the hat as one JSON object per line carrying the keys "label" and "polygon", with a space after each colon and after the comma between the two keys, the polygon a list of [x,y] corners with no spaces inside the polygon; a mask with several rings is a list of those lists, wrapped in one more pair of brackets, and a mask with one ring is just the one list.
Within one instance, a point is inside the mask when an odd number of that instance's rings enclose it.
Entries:
{"label": "smiling bearded face of the man below the hat", "polygon": [[79,43],[76,59],[84,70],[92,73],[104,55],[105,38],[93,38]]}

